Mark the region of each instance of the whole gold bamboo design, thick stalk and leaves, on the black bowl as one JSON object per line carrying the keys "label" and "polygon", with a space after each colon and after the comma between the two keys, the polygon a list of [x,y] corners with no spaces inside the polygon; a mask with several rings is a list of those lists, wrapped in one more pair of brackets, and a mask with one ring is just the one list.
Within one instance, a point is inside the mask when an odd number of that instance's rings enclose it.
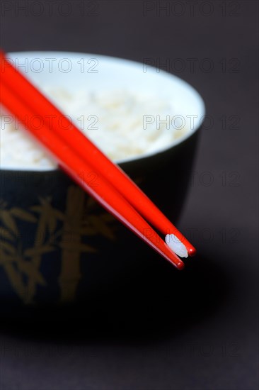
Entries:
{"label": "whole gold bamboo design, thick stalk and leaves, on the black bowl", "polygon": [[[115,227],[109,225],[115,218],[109,213],[100,213],[96,201],[86,198],[78,186],[69,187],[64,213],[54,208],[51,201],[50,198],[40,199],[40,204],[31,206],[28,211],[18,207],[7,210],[7,204],[1,202],[0,262],[13,289],[25,303],[33,303],[38,284],[46,285],[40,273],[42,256],[57,250],[57,245],[62,250],[60,301],[73,301],[81,279],[81,259],[86,258],[81,254],[97,252],[97,248],[82,242],[83,237],[103,235],[115,240]],[[23,248],[18,220],[37,224],[33,247]],[[59,221],[62,228],[57,230]]]}

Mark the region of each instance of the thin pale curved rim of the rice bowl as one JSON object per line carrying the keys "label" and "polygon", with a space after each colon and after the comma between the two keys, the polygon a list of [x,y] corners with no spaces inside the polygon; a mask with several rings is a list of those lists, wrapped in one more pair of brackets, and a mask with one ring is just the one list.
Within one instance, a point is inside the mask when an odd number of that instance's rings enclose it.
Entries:
{"label": "thin pale curved rim of the rice bowl", "polygon": [[[138,62],[138,61],[134,61],[134,60],[128,60],[126,58],[122,58],[122,57],[114,57],[114,56],[110,56],[110,55],[100,55],[98,53],[88,53],[88,52],[69,52],[69,51],[59,51],[59,50],[26,50],[26,51],[17,51],[17,52],[7,52],[6,53],[6,57],[10,56],[10,57],[19,57],[21,55],[57,55],[57,56],[71,56],[71,57],[77,57],[77,56],[83,56],[83,57],[98,57],[100,59],[103,59],[103,60],[108,60],[108,61],[115,61],[117,62],[119,65],[121,64],[126,64],[126,65],[132,65],[134,67],[143,67],[143,63],[142,62]],[[150,67],[153,71],[156,69],[155,67]],[[202,118],[202,120],[200,120],[199,123],[196,123],[196,126],[193,126],[193,128],[189,129],[187,132],[185,132],[183,135],[181,135],[179,138],[176,138],[175,140],[173,140],[170,144],[168,145],[165,145],[164,147],[160,147],[159,149],[155,150],[155,151],[152,151],[152,152],[145,152],[141,155],[136,155],[136,156],[130,156],[130,157],[125,157],[123,159],[115,159],[113,160],[113,162],[115,162],[115,164],[117,165],[123,165],[123,164],[126,164],[126,163],[130,163],[130,162],[135,162],[137,160],[144,160],[144,159],[147,159],[147,158],[150,158],[150,157],[156,157],[156,155],[161,155],[163,154],[163,152],[168,152],[169,150],[173,149],[174,147],[176,147],[177,145],[180,145],[181,143],[184,143],[185,140],[187,140],[188,138],[190,138],[194,133],[197,132],[197,130],[199,130],[199,128],[202,126],[202,122],[204,121],[204,118],[205,118],[205,114],[206,114],[206,108],[205,108],[205,102],[204,100],[202,99],[202,96],[198,93],[198,91],[192,87],[191,84],[189,84],[188,82],[185,82],[185,80],[181,79],[180,77],[178,76],[175,76],[175,74],[171,74],[169,72],[166,72],[164,71],[163,69],[159,69],[159,75],[161,75],[161,77],[167,77],[168,79],[171,79],[171,80],[174,80],[175,82],[177,82],[178,84],[180,84],[181,86],[185,87],[186,89],[188,89],[193,97],[196,99],[197,101],[197,104],[200,106],[200,111],[202,113],[202,115],[200,116]],[[59,170],[59,166],[54,166],[54,167],[1,167],[0,166],[0,170],[1,171],[18,171],[18,172],[53,172],[53,171],[56,171],[56,170]]]}

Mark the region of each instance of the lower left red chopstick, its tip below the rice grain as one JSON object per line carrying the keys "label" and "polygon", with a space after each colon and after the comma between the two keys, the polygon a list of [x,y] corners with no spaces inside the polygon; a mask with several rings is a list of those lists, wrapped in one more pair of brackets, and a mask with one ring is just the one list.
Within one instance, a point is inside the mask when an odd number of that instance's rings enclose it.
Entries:
{"label": "lower left red chopstick, its tip below the rice grain", "polygon": [[[19,100],[11,89],[8,89],[6,84],[1,79],[1,102],[8,109],[8,111],[15,113],[15,116],[21,121],[24,116],[28,118],[33,118],[35,115],[33,111],[30,110],[21,100]],[[32,121],[28,121],[32,123]],[[170,261],[178,269],[184,267],[184,263],[178,258],[175,253],[173,253],[166,243],[157,235],[153,229],[144,221],[144,219],[139,216],[137,211],[132,208],[130,204],[125,201],[120,193],[117,193],[113,186],[110,186],[109,182],[105,182],[103,178],[99,177],[100,185],[96,186],[93,189],[91,186],[88,186],[87,182],[82,180],[81,171],[84,169],[84,172],[92,172],[93,167],[87,165],[84,160],[81,160],[80,157],[77,157],[74,153],[74,150],[69,147],[66,143],[62,142],[57,135],[54,134],[53,130],[44,126],[38,132],[37,128],[35,129],[33,125],[29,126],[30,133],[32,133],[36,139],[40,140],[47,150],[52,152],[52,155],[59,161],[61,167],[76,181],[78,182],[86,191],[91,194],[97,201],[100,202],[110,213],[113,213],[122,223],[127,225],[127,227],[137,234],[142,240],[146,241],[151,247],[154,248],[157,252],[160,253],[166,260]],[[144,232],[149,232],[148,236],[144,235]]]}

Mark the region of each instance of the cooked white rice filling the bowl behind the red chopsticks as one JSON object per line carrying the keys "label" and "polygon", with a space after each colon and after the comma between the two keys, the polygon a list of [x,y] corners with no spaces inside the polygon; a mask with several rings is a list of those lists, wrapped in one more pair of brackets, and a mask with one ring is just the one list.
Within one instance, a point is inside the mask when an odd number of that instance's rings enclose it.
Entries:
{"label": "cooked white rice filling the bowl behind the red chopsticks", "polygon": [[[112,160],[155,152],[187,131],[177,123],[172,126],[173,107],[167,99],[141,91],[71,92],[45,86],[43,92]],[[56,167],[21,123],[3,111],[0,147],[2,168]]]}

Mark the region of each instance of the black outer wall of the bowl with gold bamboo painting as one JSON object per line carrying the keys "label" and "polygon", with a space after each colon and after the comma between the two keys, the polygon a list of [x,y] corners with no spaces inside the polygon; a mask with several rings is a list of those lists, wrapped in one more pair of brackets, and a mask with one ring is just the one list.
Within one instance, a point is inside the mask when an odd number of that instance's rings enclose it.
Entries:
{"label": "black outer wall of the bowl with gold bamboo painting", "polygon": [[[166,152],[121,165],[173,223],[180,216],[197,132]],[[84,172],[98,185],[94,172]],[[80,301],[110,289],[159,255],[129,232],[66,174],[0,170],[2,304]]]}

